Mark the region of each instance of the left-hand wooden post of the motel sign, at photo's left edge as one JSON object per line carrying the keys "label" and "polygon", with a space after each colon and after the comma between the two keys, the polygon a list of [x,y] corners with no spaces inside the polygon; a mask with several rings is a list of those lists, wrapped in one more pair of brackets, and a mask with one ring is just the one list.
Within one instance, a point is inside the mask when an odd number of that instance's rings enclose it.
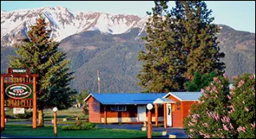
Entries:
{"label": "left-hand wooden post of the motel sign, at photo's left edge", "polygon": [[4,92],[4,77],[1,77],[1,131],[5,130],[5,92]]}

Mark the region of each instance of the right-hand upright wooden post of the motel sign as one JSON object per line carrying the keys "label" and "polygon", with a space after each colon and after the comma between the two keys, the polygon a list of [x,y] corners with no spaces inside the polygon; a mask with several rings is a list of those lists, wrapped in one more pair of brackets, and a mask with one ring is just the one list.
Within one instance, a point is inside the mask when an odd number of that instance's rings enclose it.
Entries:
{"label": "right-hand upright wooden post of the motel sign", "polygon": [[37,129],[37,86],[35,76],[33,76],[33,129]]}

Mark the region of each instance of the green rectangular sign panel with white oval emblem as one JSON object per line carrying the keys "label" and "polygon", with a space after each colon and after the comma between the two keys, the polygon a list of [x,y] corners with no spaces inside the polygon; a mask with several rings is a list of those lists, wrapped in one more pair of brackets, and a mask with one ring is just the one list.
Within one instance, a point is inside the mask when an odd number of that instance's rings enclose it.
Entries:
{"label": "green rectangular sign panel with white oval emblem", "polygon": [[33,98],[33,85],[14,83],[5,85],[5,98]]}

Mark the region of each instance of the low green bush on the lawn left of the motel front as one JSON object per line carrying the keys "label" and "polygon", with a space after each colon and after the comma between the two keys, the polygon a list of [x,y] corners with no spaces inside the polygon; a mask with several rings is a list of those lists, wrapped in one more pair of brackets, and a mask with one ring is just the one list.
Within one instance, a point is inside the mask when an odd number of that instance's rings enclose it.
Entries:
{"label": "low green bush on the lawn left of the motel front", "polygon": [[96,124],[91,122],[83,123],[82,125],[65,125],[62,126],[61,129],[63,130],[89,130],[89,129],[95,129]]}

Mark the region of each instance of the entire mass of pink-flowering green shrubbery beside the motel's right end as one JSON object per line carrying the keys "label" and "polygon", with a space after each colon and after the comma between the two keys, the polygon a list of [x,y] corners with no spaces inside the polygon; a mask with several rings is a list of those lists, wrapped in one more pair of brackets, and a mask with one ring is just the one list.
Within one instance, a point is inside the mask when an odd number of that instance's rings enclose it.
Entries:
{"label": "entire mass of pink-flowering green shrubbery beside the motel's right end", "polygon": [[186,133],[193,138],[255,138],[255,79],[244,74],[234,79],[215,77],[185,118]]}

